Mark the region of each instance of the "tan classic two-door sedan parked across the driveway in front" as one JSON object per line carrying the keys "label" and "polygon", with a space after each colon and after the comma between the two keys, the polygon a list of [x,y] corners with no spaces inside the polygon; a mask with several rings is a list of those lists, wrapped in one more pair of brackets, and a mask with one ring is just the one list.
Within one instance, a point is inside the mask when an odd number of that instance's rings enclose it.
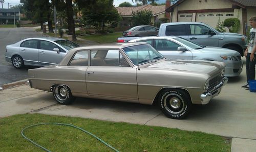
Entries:
{"label": "tan classic two-door sedan parked across the driveway in front", "polygon": [[29,69],[28,83],[51,91],[59,104],[90,97],[151,105],[182,119],[192,104],[208,104],[228,81],[225,64],[172,61],[147,43],[77,47],[58,64]]}

